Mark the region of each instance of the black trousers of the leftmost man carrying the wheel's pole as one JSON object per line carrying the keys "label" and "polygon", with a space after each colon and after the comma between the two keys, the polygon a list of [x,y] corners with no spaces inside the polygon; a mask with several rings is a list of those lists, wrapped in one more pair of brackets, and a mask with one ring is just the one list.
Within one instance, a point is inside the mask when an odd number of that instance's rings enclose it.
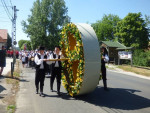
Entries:
{"label": "black trousers of the leftmost man carrying the wheel's pole", "polygon": [[45,80],[45,70],[36,69],[35,86],[37,91],[39,89],[39,83],[40,83],[40,92],[43,92],[44,80]]}

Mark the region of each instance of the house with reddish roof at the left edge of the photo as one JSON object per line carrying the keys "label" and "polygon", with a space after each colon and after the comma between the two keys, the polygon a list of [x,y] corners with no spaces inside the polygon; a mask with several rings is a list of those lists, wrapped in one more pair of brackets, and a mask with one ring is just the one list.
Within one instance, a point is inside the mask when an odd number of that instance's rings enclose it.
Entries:
{"label": "house with reddish roof at the left edge of the photo", "polygon": [[7,29],[0,29],[0,48],[7,46]]}

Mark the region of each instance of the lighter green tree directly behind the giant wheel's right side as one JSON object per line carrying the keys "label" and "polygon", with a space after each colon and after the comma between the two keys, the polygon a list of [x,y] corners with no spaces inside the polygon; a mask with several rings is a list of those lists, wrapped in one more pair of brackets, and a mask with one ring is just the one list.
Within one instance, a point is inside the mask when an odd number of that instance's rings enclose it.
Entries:
{"label": "lighter green tree directly behind the giant wheel's right side", "polygon": [[115,40],[114,33],[117,22],[120,18],[117,15],[104,15],[102,20],[92,24],[99,41]]}

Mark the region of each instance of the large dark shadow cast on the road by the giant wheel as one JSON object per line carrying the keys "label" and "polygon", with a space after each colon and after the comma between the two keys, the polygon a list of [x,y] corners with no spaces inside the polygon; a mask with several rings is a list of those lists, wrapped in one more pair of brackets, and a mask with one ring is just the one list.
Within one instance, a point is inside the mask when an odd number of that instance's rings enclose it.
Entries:
{"label": "large dark shadow cast on the road by the giant wheel", "polygon": [[141,92],[133,89],[110,88],[110,91],[104,91],[97,87],[94,92],[75,97],[96,106],[122,109],[137,110],[150,107],[150,99],[138,96],[135,92]]}

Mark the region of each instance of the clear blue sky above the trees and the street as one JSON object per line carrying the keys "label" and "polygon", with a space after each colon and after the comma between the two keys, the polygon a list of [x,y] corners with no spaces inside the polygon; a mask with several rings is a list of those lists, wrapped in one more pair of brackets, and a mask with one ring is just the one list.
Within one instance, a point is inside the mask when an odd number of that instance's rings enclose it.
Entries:
{"label": "clear blue sky above the trees and the street", "polygon": [[[3,4],[0,0],[0,29],[7,29],[11,36],[12,23],[6,14]],[[21,21],[27,20],[31,14],[30,9],[35,0],[4,0],[8,6],[8,10],[12,14],[10,6],[16,6],[16,40],[30,40],[23,32]],[[150,16],[150,0],[65,0],[68,7],[68,15],[73,23],[95,23],[101,20],[104,14],[118,15],[121,19],[127,16],[128,13],[141,12],[144,15]],[[17,45],[18,46],[18,45]]]}

